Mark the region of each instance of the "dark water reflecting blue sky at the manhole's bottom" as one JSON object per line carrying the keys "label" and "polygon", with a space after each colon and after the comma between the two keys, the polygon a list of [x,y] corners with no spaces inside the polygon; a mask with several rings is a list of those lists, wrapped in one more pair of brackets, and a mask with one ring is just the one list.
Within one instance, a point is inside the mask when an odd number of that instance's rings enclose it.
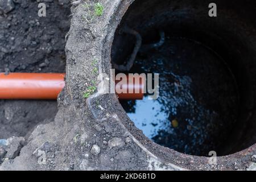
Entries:
{"label": "dark water reflecting blue sky at the manhole's bottom", "polygon": [[140,53],[130,73],[159,73],[157,100],[120,101],[154,142],[185,154],[218,152],[236,123],[237,84],[225,61],[203,44],[168,38]]}

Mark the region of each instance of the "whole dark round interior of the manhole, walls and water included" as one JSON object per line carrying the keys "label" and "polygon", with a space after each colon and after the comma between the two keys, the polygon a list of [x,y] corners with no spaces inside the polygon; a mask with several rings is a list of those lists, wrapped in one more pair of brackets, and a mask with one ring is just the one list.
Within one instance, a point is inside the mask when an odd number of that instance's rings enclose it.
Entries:
{"label": "whole dark round interior of the manhole, walls and water included", "polygon": [[[159,73],[159,98],[120,101],[146,137],[185,154],[218,156],[255,143],[256,26],[254,1],[135,1],[123,17],[112,61],[125,64],[136,42],[121,30],[142,36],[129,73]],[[246,23],[245,23],[246,22]],[[164,43],[144,49],[144,45]],[[160,33],[161,34],[161,33]],[[144,46],[144,47],[143,47]]]}

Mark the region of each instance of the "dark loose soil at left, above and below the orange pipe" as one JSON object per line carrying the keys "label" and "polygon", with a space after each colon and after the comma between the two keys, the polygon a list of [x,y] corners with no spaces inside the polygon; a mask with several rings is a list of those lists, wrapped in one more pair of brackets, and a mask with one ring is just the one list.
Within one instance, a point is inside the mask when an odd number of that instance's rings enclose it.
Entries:
{"label": "dark loose soil at left, above and below the orange pipe", "polygon": [[[11,2],[0,10],[0,72],[65,72],[69,1]],[[46,17],[38,16],[39,2],[46,3]],[[56,101],[0,100],[0,138],[28,136],[56,112]]]}

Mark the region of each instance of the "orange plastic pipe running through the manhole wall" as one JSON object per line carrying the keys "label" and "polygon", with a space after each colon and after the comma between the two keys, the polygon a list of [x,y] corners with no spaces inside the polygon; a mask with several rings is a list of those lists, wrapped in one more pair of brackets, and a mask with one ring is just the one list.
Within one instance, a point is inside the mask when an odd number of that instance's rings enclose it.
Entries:
{"label": "orange plastic pipe running through the manhole wall", "polygon": [[[65,73],[0,73],[0,99],[56,100],[65,86]],[[144,81],[127,82],[126,88],[140,88],[139,93],[120,93],[118,98],[141,100]]]}

